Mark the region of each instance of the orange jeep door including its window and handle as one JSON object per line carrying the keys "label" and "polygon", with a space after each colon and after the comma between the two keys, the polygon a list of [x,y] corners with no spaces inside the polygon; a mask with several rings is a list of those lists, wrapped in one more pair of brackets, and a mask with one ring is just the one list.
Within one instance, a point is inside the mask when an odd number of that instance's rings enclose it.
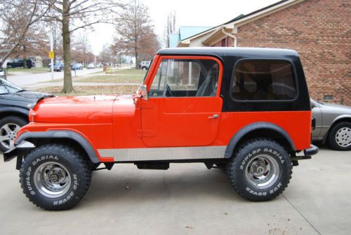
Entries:
{"label": "orange jeep door including its window and handle", "polygon": [[211,145],[223,104],[222,74],[223,66],[214,57],[159,57],[147,80],[148,100],[141,102],[145,145]]}

